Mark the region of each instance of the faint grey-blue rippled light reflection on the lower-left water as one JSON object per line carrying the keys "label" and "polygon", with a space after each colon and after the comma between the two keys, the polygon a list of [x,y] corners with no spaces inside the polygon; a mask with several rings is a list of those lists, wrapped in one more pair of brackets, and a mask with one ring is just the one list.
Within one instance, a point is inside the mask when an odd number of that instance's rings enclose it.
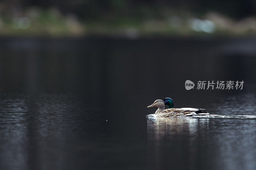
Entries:
{"label": "faint grey-blue rippled light reflection on the lower-left water", "polygon": [[[76,104],[68,95],[4,95],[0,104],[0,168],[62,169]],[[74,101],[74,99],[72,99]],[[82,116],[83,117],[83,116]],[[79,121],[76,121],[76,124]],[[69,135],[72,137],[72,135]]]}

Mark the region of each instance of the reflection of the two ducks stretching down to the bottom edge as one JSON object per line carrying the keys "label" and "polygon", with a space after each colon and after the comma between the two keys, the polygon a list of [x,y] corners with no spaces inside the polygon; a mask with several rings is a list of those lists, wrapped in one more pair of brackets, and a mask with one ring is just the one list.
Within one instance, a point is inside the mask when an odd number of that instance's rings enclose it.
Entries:
{"label": "reflection of the two ducks stretching down to the bottom edge", "polygon": [[[200,156],[200,137],[209,129],[209,119],[170,117],[147,119],[148,166],[195,169]],[[201,131],[203,130],[203,131]],[[166,161],[168,160],[168,161]],[[183,162],[186,163],[183,163]],[[154,163],[152,163],[154,162]],[[175,169],[175,167],[173,167]]]}

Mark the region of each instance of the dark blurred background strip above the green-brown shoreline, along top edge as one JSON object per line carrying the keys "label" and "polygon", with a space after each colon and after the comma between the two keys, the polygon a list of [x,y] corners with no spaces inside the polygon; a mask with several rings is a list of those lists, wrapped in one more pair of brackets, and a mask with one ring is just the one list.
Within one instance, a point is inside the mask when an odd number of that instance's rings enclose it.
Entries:
{"label": "dark blurred background strip above the green-brown shoreline, along top edge", "polygon": [[[69,1],[58,1],[58,0],[12,0],[12,1],[2,1],[3,5],[6,5],[12,10],[24,10],[30,7],[38,7],[42,9],[57,8],[62,13],[74,13],[81,19],[99,19],[104,18],[108,14],[118,15],[117,17],[145,17],[147,14],[143,15],[142,9],[148,8],[152,13],[149,16],[161,17],[161,9],[172,8],[176,10],[187,10],[197,15],[203,15],[208,11],[218,11],[222,14],[228,15],[229,17],[235,19],[241,19],[248,16],[255,16],[255,1],[254,0],[180,0],[180,1],[167,1],[167,0],[138,0],[138,1],[128,1],[128,0],[75,0]],[[5,7],[6,7],[5,6]],[[2,11],[7,11],[3,9]],[[10,11],[9,11],[10,12]]]}

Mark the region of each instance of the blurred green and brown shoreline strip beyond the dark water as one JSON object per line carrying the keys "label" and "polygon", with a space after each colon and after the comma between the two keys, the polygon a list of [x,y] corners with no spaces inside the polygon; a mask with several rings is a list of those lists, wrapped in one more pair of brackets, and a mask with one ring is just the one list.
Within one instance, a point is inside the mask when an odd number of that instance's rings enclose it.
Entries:
{"label": "blurred green and brown shoreline strip beyond the dark water", "polygon": [[[167,10],[168,11],[168,10]],[[81,19],[75,13],[57,9],[30,8],[19,13],[0,13],[0,36],[254,36],[256,17],[233,19],[208,11],[196,15],[169,10],[161,17],[124,17],[108,14],[102,18]]]}

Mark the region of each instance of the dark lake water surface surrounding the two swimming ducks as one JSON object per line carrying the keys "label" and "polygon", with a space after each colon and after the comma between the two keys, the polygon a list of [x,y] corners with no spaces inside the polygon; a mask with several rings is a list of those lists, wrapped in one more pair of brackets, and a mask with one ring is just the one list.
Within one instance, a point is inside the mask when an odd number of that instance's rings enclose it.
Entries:
{"label": "dark lake water surface surrounding the two swimming ducks", "polygon": [[[256,169],[255,44],[2,38],[0,169]],[[147,118],[165,97],[231,116]]]}

